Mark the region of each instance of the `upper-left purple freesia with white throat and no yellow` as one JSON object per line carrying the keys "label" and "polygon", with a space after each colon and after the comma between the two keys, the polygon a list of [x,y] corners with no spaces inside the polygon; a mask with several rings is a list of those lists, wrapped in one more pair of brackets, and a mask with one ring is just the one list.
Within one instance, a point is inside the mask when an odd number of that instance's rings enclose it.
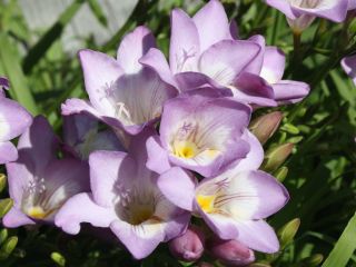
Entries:
{"label": "upper-left purple freesia with white throat and no yellow", "polygon": [[138,27],[121,41],[117,60],[101,52],[81,50],[79,58],[90,103],[69,99],[62,105],[62,113],[88,112],[130,135],[157,121],[164,102],[177,91],[139,63],[155,46],[151,32]]}

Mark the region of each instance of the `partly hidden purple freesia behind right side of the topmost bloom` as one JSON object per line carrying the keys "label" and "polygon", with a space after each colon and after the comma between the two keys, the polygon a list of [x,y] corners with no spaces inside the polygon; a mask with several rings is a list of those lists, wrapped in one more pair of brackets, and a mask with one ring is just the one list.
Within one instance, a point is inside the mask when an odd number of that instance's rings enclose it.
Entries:
{"label": "partly hidden purple freesia behind right side of the topmost bloom", "polygon": [[[263,103],[264,98],[273,97],[278,103],[295,103],[303,100],[309,93],[309,86],[301,81],[283,80],[286,57],[276,47],[266,46],[265,38],[254,36],[250,40],[261,47],[259,55],[246,67],[237,78],[236,86],[240,89],[264,92],[259,93],[256,103]],[[233,90],[239,96],[241,90]]]}

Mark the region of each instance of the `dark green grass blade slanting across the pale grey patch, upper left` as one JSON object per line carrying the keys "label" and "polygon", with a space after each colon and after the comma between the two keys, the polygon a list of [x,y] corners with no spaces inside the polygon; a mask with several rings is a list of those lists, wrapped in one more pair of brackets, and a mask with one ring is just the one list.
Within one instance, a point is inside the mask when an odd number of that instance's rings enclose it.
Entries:
{"label": "dark green grass blade slanting across the pale grey patch, upper left", "polygon": [[47,50],[61,36],[66,26],[71,21],[83,0],[73,1],[59,17],[58,21],[44,33],[44,36],[30,49],[23,59],[23,72],[31,72],[37,62],[46,55]]}

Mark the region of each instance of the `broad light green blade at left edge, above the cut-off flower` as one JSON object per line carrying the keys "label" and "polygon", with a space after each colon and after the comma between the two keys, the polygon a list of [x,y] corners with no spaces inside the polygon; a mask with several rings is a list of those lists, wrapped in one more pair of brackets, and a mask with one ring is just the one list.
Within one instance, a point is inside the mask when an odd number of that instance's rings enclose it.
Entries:
{"label": "broad light green blade at left edge, above the cut-off flower", "polygon": [[22,72],[19,53],[6,33],[0,33],[0,62],[4,75],[10,80],[10,96],[32,115],[37,115],[38,107],[36,106],[27,79]]}

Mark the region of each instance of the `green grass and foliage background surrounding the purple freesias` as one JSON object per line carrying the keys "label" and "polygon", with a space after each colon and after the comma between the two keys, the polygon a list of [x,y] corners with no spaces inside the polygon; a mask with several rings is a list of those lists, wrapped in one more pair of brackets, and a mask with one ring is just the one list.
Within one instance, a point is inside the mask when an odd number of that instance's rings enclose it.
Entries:
{"label": "green grass and foliage background surrounding the purple freesias", "polygon": [[[229,18],[236,20],[241,39],[265,36],[268,44],[278,46],[287,55],[285,78],[312,86],[305,101],[254,115],[284,112],[278,132],[265,146],[265,168],[276,148],[294,144],[287,161],[270,170],[284,180],[291,196],[286,208],[270,219],[279,229],[283,250],[259,255],[259,265],[255,266],[319,266],[333,249],[324,267],[356,266],[356,219],[352,219],[356,207],[356,87],[339,66],[343,57],[356,51],[355,19],[344,24],[316,20],[304,32],[295,57],[293,33],[281,13],[259,0],[222,2]],[[122,36],[146,24],[167,55],[170,10],[182,8],[194,13],[202,3],[0,0],[0,75],[10,80],[11,98],[33,115],[44,115],[60,132],[61,102],[87,97],[76,57],[79,49],[115,56]],[[7,197],[7,191],[1,196]],[[288,221],[296,230],[296,218],[300,219],[296,236],[293,230],[283,230]],[[70,237],[47,226],[0,228],[0,266],[189,266],[171,258],[166,246],[144,261],[134,261],[116,244],[93,237],[102,235],[85,230],[79,237]],[[204,260],[211,263],[208,256]]]}

